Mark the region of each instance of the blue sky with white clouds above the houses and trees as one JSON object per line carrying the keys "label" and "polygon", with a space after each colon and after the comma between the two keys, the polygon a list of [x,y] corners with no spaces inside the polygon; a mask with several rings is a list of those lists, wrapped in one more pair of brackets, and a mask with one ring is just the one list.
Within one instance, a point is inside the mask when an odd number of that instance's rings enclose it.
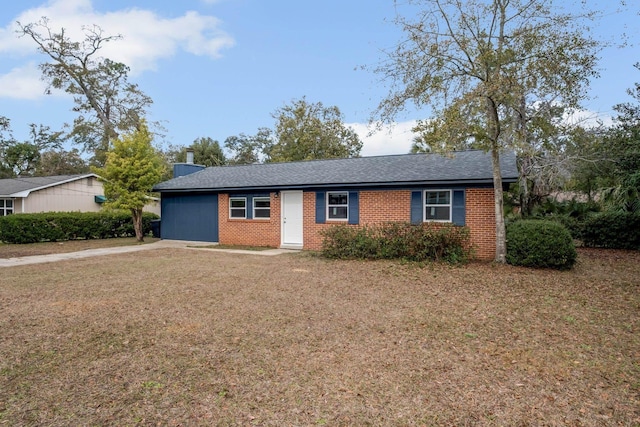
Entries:
{"label": "blue sky with white clouds above the houses and trees", "polygon": [[[571,6],[569,0],[558,4]],[[576,2],[579,4],[579,2]],[[629,2],[633,3],[633,2]],[[571,3],[573,4],[573,3]],[[604,12],[594,35],[607,41],[628,36],[624,48],[601,54],[601,77],[591,84],[585,116],[607,121],[611,107],[629,101],[625,90],[640,81],[640,7],[617,12],[614,0],[587,0]],[[18,39],[15,21],[41,16],[73,34],[100,25],[124,39],[104,56],[131,67],[130,80],[154,104],[150,120],[166,128],[165,143],[189,145],[198,137],[221,143],[231,135],[273,127],[271,114],[306,96],[336,105],[363,138],[363,155],[406,153],[410,128],[427,111],[398,117],[388,131],[367,137],[371,112],[387,93],[375,65],[381,50],[402,36],[393,25],[393,0],[21,0],[0,9],[0,116],[14,136],[26,139],[28,124],[60,129],[73,120],[71,99],[44,95],[33,42]]]}

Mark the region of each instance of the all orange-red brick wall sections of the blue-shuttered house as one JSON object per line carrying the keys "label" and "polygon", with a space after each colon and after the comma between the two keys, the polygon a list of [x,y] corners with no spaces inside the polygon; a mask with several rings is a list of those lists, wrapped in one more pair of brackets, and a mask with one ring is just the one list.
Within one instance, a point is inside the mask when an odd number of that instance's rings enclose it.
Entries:
{"label": "all orange-red brick wall sections of the blue-shuttered house", "polygon": [[[495,256],[495,221],[493,189],[469,188],[466,190],[466,225],[470,229],[471,244],[478,259],[490,260]],[[271,193],[271,218],[269,220],[229,219],[229,196],[220,194],[218,214],[220,218],[220,243],[231,245],[272,246],[280,245],[280,197]],[[371,225],[387,221],[411,220],[411,191],[360,191],[359,224]],[[322,246],[322,229],[339,224],[327,221],[316,224],[316,193],[303,193],[304,249],[318,250]],[[345,221],[346,223],[346,221]]]}

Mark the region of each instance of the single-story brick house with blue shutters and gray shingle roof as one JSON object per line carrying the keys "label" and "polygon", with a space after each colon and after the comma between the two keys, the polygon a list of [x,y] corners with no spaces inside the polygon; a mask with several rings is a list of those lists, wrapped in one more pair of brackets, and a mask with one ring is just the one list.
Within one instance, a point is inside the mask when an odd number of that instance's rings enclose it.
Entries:
{"label": "single-story brick house with blue shutters and gray shingle roof", "polygon": [[[503,153],[504,186],[516,182]],[[407,154],[204,168],[174,166],[160,183],[163,239],[319,249],[335,224],[451,222],[469,227],[476,256],[495,256],[491,155]]]}

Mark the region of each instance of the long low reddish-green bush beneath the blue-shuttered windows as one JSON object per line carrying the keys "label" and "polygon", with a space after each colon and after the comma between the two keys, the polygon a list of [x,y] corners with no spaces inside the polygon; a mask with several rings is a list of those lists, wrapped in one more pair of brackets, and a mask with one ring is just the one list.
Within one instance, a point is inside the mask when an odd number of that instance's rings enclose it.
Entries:
{"label": "long low reddish-green bush beneath the blue-shuttered windows", "polygon": [[335,225],[320,234],[322,255],[327,258],[459,263],[471,256],[468,228],[452,224]]}

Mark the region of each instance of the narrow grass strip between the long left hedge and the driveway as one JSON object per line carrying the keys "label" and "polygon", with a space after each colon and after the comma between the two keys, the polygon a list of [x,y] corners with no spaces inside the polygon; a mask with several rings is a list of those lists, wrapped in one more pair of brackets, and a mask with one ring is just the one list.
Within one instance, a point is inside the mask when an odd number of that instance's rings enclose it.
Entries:
{"label": "narrow grass strip between the long left hedge and the driveway", "polygon": [[157,242],[158,240],[160,239],[154,237],[145,237],[144,242],[139,243],[135,237],[123,237],[118,239],[68,240],[64,242],[28,243],[24,245],[7,244],[0,242],[0,258],[18,258],[33,255],[77,252],[84,251],[86,249],[140,245]]}

